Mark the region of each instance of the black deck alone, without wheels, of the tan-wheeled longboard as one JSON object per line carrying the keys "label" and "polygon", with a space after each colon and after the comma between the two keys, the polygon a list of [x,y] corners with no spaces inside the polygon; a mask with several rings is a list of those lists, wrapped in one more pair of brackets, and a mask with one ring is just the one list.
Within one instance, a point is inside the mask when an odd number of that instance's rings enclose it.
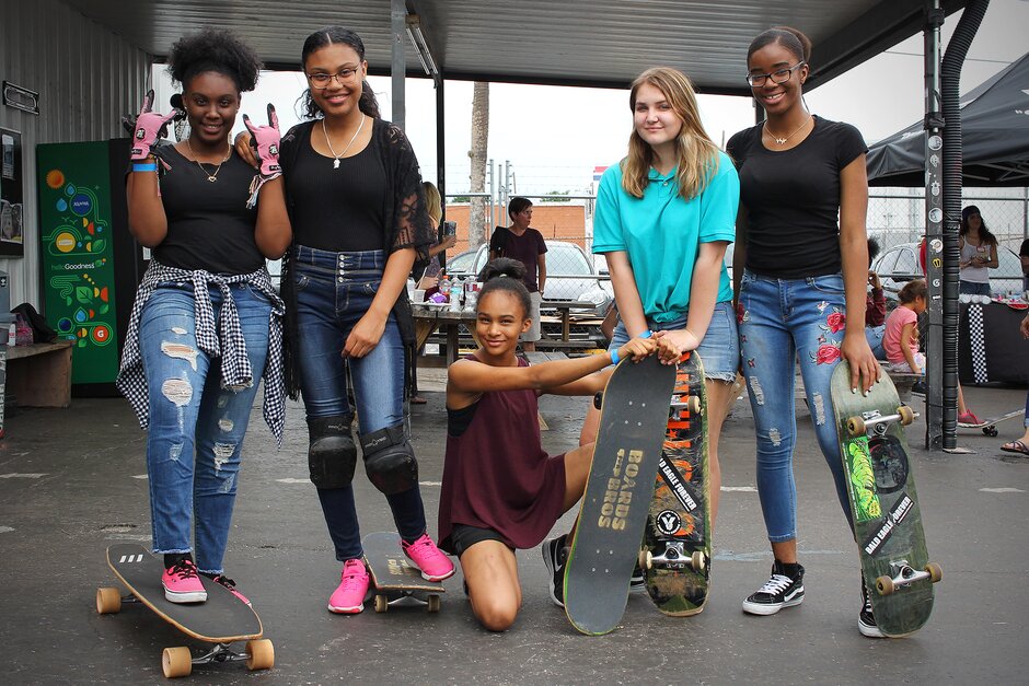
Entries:
{"label": "black deck alone, without wheels, of the tan-wheeled longboard", "polygon": [[161,585],[162,560],[138,544],[107,548],[107,565],[143,605],[170,625],[209,643],[232,643],[261,638],[257,614],[229,589],[200,577],[207,590],[204,603],[171,603]]}

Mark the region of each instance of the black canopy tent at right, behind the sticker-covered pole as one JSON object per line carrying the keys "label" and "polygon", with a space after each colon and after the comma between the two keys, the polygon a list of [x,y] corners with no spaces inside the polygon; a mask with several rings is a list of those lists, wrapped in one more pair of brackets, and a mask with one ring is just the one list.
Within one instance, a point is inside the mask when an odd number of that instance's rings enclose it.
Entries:
{"label": "black canopy tent at right, behind the sticker-covered pole", "polygon": [[[871,186],[925,186],[921,121],[868,150]],[[961,97],[962,185],[1029,186],[1029,54]]]}

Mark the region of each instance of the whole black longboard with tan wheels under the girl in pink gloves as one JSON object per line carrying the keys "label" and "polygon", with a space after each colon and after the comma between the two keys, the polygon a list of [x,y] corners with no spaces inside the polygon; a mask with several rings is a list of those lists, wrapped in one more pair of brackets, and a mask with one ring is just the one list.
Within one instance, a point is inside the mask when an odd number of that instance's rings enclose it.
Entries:
{"label": "whole black longboard with tan wheels under the girl in pink gloves", "polygon": [[[164,597],[161,584],[162,560],[138,544],[115,544],[107,548],[107,565],[118,581],[128,589],[123,596],[116,588],[96,590],[96,612],[102,615],[122,609],[123,602],[139,602],[161,619],[186,636],[213,643],[205,655],[193,658],[188,648],[165,648],[162,655],[164,676],[187,676],[194,664],[208,662],[246,662],[250,670],[267,670],[275,662],[271,641],[262,639],[263,628],[257,614],[231,591],[200,577],[207,590],[203,603],[172,603]],[[247,641],[245,652],[235,652],[229,644]]]}

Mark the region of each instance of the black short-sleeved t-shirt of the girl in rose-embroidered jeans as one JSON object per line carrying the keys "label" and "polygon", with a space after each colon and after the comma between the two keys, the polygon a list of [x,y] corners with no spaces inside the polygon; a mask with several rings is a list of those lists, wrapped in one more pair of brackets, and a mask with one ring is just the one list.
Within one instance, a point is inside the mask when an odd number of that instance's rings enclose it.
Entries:
{"label": "black short-sleeved t-shirt of the girl in rose-embroidered jeans", "polygon": [[796,148],[767,150],[762,125],[738,132],[726,151],[740,173],[747,208],[747,268],[778,279],[836,274],[840,172],[868,151],[849,124],[814,117]]}

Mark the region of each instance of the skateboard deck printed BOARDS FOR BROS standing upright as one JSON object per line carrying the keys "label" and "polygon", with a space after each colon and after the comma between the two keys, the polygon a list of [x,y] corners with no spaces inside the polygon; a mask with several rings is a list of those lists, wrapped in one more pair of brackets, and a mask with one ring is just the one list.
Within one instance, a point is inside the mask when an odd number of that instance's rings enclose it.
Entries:
{"label": "skateboard deck printed BOARDS FOR BROS standing upright", "polygon": [[565,613],[601,635],[625,612],[661,457],[675,367],[622,361],[608,380],[593,462],[565,567]]}

